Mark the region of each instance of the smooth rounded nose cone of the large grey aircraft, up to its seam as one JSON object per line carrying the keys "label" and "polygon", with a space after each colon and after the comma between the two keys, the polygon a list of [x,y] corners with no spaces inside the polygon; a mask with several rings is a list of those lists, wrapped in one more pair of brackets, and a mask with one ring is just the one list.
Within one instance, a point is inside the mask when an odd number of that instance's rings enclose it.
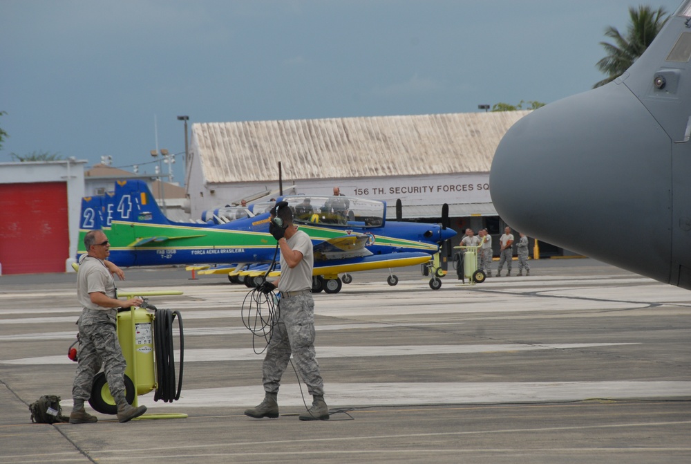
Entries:
{"label": "smooth rounded nose cone of the large grey aircraft, up to its seam", "polygon": [[630,90],[607,84],[509,129],[492,163],[492,201],[519,232],[668,281],[671,162],[652,155],[670,147]]}

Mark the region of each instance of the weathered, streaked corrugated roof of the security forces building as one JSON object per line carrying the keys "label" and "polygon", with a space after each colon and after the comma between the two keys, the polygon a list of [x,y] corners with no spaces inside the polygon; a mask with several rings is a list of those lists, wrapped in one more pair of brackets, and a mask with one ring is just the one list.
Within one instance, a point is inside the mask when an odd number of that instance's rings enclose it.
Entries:
{"label": "weathered, streaked corrugated roof of the security forces building", "polygon": [[529,111],[192,125],[207,183],[488,172]]}

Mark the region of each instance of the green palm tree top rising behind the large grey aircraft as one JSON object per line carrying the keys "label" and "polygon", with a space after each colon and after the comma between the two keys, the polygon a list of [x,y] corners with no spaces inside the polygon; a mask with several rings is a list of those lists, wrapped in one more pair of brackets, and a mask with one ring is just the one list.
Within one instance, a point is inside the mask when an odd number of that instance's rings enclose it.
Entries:
{"label": "green palm tree top rising behind the large grey aircraft", "polygon": [[593,88],[603,86],[621,76],[638,57],[643,55],[645,49],[669,19],[667,11],[662,7],[657,11],[653,11],[650,6],[639,6],[638,10],[630,7],[629,15],[631,23],[627,28],[626,37],[612,26],[605,29],[605,36],[614,39],[614,44],[600,42],[607,56],[600,59],[596,66],[607,74],[607,78],[595,84]]}

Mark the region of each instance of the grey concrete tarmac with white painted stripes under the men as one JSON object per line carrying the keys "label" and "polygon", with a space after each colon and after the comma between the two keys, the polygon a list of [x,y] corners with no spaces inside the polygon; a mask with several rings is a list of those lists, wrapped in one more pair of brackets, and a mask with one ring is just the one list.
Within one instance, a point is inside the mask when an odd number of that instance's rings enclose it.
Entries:
{"label": "grey concrete tarmac with white painted stripes under the men", "polygon": [[417,267],[395,270],[395,287],[386,272],[354,274],[314,295],[332,415],[302,422],[307,389],[290,365],[281,416],[243,414],[263,398],[248,288],[180,268],[125,272],[120,289],[184,292],[150,299],[182,314],[180,400],[138,401],[188,417],[120,424],[87,406],[98,423],[32,424],[41,395],[71,409],[75,274],[2,276],[1,463],[691,461],[687,290],[592,259],[531,261],[529,277],[475,286],[449,275],[439,290]]}

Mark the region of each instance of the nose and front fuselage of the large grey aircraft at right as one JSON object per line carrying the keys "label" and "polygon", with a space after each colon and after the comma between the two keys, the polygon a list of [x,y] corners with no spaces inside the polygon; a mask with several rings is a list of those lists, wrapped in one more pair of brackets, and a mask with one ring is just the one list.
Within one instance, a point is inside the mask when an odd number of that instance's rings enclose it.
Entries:
{"label": "nose and front fuselage of the large grey aircraft at right", "polygon": [[491,196],[512,228],[691,289],[691,8],[614,82],[516,122]]}

